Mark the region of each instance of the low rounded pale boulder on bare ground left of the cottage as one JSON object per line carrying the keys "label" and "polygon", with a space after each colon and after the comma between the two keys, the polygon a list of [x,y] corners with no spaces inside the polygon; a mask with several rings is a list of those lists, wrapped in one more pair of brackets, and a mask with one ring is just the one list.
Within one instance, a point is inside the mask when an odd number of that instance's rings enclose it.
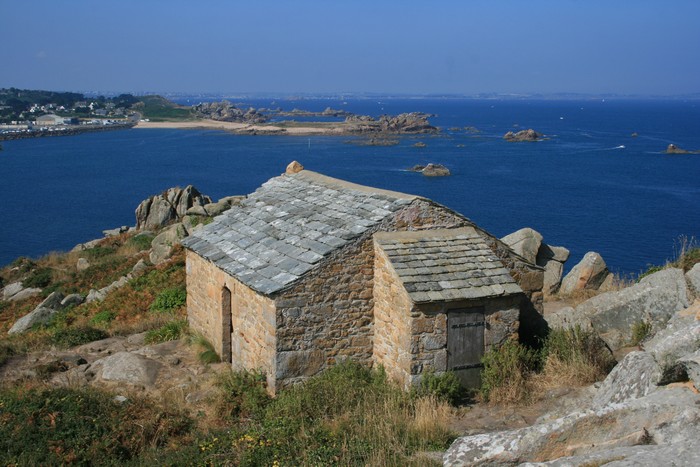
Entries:
{"label": "low rounded pale boulder on bare ground left of the cottage", "polygon": [[97,360],[93,365],[101,366],[100,377],[104,381],[153,386],[158,378],[161,364],[143,355],[118,352]]}

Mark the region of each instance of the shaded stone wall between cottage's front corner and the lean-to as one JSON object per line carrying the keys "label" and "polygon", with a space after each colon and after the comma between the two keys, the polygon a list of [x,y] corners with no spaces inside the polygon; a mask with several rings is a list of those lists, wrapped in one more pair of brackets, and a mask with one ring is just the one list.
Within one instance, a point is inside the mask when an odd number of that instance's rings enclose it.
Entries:
{"label": "shaded stone wall between cottage's front corner and the lean-to", "polygon": [[344,358],[370,365],[374,300],[373,232],[331,253],[282,292],[277,306],[277,379],[312,376]]}

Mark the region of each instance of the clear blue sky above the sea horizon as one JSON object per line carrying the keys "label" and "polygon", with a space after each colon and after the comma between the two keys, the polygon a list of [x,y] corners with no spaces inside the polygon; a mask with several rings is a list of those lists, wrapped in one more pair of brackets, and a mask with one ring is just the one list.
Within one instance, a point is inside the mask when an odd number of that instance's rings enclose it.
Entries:
{"label": "clear blue sky above the sea horizon", "polygon": [[0,0],[0,87],[700,92],[700,2]]}

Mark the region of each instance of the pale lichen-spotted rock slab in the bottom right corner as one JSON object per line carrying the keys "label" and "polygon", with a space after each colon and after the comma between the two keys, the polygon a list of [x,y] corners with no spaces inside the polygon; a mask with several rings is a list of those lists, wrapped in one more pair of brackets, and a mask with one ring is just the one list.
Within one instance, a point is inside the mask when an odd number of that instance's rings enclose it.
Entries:
{"label": "pale lichen-spotted rock slab in the bottom right corner", "polygon": [[[608,454],[603,456],[607,459],[603,462],[606,465],[639,465],[608,464],[616,459],[611,458],[610,453],[619,450],[635,453],[642,448],[641,451],[648,449],[650,452],[664,449],[668,455],[676,449],[692,451],[688,446],[697,449],[700,446],[699,403],[700,396],[692,391],[670,388],[518,430],[466,436],[452,443],[443,457],[443,465],[515,465],[528,461],[552,461],[551,465],[567,466],[602,465],[556,461],[562,457],[586,458],[595,453]],[[698,457],[697,454],[685,456]],[[666,465],[669,459],[675,457],[666,458],[666,463],[660,465]],[[642,465],[647,464],[643,462]]]}

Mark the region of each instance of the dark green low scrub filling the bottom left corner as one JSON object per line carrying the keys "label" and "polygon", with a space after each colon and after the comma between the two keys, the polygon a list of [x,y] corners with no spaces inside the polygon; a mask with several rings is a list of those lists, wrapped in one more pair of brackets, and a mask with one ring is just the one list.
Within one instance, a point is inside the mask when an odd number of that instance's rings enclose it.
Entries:
{"label": "dark green low scrub filling the bottom left corner", "polygon": [[3,465],[120,465],[187,442],[194,426],[143,397],[119,403],[97,389],[42,384],[0,388],[0,418]]}

